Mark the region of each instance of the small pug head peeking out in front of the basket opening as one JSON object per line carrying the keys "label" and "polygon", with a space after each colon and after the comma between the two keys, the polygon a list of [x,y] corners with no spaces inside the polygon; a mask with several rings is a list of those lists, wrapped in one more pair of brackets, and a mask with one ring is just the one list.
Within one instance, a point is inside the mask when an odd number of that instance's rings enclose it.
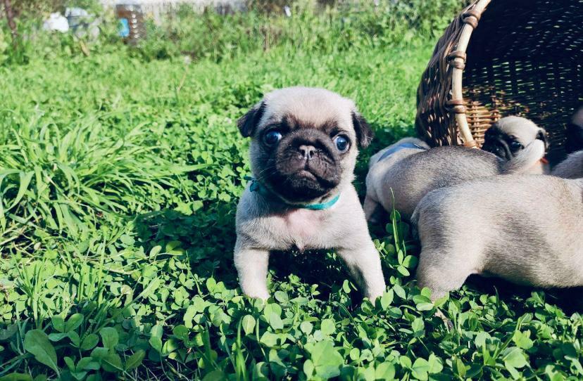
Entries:
{"label": "small pug head peeking out in front of the basket opening", "polygon": [[548,148],[546,131],[523,117],[503,117],[487,129],[482,150],[510,160],[520,150],[539,139]]}

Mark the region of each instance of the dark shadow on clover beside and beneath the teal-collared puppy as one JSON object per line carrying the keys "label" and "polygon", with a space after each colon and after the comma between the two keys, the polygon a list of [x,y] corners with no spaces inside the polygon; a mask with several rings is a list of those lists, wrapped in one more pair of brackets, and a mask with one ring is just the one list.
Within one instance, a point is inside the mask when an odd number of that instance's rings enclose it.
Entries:
{"label": "dark shadow on clover beside and beneath the teal-collared puppy", "polygon": [[[203,278],[213,276],[227,288],[237,288],[233,264],[236,205],[225,203],[209,209],[192,215],[172,209],[141,214],[134,221],[137,244],[147,254],[156,245],[165,250],[170,243],[185,251],[183,255],[193,274]],[[276,282],[287,281],[294,274],[302,283],[317,284],[319,299],[327,299],[330,292],[341,288],[344,279],[349,278],[341,261],[332,259],[326,252],[272,252],[269,269]]]}

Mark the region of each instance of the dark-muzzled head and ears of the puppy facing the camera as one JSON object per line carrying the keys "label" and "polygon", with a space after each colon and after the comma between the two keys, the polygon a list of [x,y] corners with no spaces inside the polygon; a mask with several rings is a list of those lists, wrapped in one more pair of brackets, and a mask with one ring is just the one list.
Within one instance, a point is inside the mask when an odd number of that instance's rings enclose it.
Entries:
{"label": "dark-muzzled head and ears of the puppy facing the camera", "polygon": [[325,89],[272,91],[237,125],[251,137],[253,176],[290,204],[321,200],[351,183],[358,147],[372,140],[353,101]]}

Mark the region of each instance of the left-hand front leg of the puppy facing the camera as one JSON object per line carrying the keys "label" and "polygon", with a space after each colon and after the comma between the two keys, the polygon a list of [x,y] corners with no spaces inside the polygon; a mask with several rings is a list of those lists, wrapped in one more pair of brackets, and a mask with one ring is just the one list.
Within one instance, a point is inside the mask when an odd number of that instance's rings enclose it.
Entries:
{"label": "left-hand front leg of the puppy facing the camera", "polygon": [[235,245],[234,264],[239,273],[239,285],[243,293],[249,297],[263,300],[269,298],[267,289],[267,273],[269,251],[246,249]]}

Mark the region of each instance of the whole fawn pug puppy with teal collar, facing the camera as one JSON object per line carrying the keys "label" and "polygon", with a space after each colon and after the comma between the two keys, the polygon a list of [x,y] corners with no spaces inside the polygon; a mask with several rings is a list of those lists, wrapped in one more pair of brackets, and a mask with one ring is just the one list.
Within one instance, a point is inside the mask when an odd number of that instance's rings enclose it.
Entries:
{"label": "whole fawn pug puppy with teal collar, facing the camera", "polygon": [[251,137],[253,180],[237,207],[234,264],[243,292],[267,299],[273,250],[334,249],[371,300],[380,257],[352,181],[372,131],[353,101],[325,89],[272,91],[238,122]]}

